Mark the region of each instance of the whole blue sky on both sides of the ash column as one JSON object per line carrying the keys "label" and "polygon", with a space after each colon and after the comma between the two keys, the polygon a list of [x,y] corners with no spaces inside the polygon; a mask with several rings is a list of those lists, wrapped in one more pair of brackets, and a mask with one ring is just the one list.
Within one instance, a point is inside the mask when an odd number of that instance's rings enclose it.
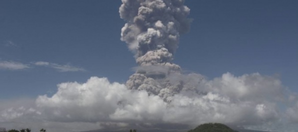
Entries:
{"label": "whole blue sky on both sides of the ash column", "polygon": [[[58,83],[85,82],[90,76],[125,83],[137,64],[120,40],[125,23],[120,4],[1,0],[0,99],[51,95]],[[173,60],[185,72],[209,79],[259,72],[298,91],[298,1],[186,0],[185,5],[193,21]]]}

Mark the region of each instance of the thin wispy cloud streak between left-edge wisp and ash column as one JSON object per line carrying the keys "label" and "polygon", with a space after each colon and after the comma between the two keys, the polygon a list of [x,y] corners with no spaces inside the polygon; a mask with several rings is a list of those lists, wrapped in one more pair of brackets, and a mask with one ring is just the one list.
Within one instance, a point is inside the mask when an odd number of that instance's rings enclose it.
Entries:
{"label": "thin wispy cloud streak between left-edge wisp and ash column", "polygon": [[37,66],[46,66],[50,68],[54,68],[60,72],[71,72],[71,71],[86,71],[84,68],[75,67],[70,64],[57,64],[57,63],[50,63],[46,61],[37,61],[33,63]]}

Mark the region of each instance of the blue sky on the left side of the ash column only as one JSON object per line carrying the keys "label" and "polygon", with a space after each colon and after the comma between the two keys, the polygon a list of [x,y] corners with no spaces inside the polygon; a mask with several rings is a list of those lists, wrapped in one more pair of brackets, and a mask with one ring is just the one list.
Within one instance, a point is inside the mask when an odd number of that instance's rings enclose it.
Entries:
{"label": "blue sky on the left side of the ash column only", "polygon": [[[2,61],[70,63],[86,69],[85,72],[57,72],[42,67],[1,69],[1,98],[34,97],[56,90],[57,83],[85,81],[94,75],[126,81],[131,74],[134,59],[119,39],[124,23],[118,14],[120,1],[1,2]],[[5,46],[7,41],[15,46]]]}

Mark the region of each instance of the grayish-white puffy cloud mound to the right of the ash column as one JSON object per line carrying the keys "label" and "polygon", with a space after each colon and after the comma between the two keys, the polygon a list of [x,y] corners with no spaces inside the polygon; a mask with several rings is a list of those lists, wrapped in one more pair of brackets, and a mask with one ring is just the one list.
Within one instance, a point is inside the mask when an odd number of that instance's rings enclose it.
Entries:
{"label": "grayish-white puffy cloud mound to the right of the ash column", "polygon": [[285,87],[272,76],[259,73],[234,76],[224,73],[206,83],[208,90],[240,100],[281,100],[284,99]]}

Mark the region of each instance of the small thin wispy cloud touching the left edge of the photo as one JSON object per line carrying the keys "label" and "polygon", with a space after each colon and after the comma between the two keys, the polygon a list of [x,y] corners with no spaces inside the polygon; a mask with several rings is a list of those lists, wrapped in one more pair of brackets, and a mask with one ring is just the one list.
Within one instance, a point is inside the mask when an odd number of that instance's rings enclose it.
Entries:
{"label": "small thin wispy cloud touching the left edge of the photo", "polygon": [[0,69],[4,70],[20,70],[29,68],[30,66],[28,64],[24,64],[21,62],[15,62],[15,61],[0,61]]}

